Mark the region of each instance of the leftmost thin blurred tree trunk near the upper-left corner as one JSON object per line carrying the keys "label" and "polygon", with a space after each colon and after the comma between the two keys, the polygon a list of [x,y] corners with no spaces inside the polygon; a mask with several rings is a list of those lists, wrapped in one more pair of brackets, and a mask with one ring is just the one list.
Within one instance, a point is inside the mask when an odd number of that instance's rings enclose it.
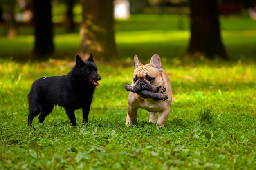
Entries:
{"label": "leftmost thin blurred tree trunk near the upper-left corner", "polygon": [[14,19],[14,6],[15,2],[10,0],[5,4],[5,12],[6,12],[6,29],[7,29],[7,37],[14,38],[18,35],[17,33],[17,24]]}

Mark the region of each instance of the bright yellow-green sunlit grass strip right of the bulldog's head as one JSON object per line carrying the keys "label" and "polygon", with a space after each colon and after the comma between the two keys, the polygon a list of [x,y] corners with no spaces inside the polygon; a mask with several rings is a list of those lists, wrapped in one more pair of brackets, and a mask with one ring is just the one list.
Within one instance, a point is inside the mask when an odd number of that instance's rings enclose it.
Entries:
{"label": "bright yellow-green sunlit grass strip right of the bulldog's head", "polygon": [[[211,83],[229,83],[229,82],[253,82],[255,81],[256,66],[185,66],[178,69],[169,70],[167,73],[175,80],[186,82],[208,82]],[[176,77],[178,76],[178,77]]]}

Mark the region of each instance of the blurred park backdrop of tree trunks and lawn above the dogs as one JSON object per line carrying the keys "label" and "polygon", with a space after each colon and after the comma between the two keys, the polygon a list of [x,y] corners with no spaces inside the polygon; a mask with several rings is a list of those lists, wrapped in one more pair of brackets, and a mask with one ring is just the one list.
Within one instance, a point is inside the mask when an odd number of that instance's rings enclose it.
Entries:
{"label": "blurred park backdrop of tree trunks and lawn above the dogs", "polygon": [[0,0],[0,57],[255,60],[256,0]]}

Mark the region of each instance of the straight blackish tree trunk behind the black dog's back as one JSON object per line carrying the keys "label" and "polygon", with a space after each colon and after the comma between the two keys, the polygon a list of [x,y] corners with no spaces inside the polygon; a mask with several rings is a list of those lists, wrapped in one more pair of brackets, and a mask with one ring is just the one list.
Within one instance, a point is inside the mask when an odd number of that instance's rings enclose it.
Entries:
{"label": "straight blackish tree trunk behind the black dog's back", "polygon": [[33,0],[34,55],[47,58],[54,52],[51,0]]}

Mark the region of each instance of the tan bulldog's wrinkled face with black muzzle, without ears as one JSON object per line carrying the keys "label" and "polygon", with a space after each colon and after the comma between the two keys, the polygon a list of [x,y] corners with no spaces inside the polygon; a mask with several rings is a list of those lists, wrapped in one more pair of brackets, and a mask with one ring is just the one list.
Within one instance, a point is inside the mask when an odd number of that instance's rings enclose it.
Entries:
{"label": "tan bulldog's wrinkled face with black muzzle, without ears", "polygon": [[135,68],[132,79],[132,86],[135,92],[142,90],[152,91],[159,93],[163,86],[161,72],[153,65],[146,64],[140,65]]}

